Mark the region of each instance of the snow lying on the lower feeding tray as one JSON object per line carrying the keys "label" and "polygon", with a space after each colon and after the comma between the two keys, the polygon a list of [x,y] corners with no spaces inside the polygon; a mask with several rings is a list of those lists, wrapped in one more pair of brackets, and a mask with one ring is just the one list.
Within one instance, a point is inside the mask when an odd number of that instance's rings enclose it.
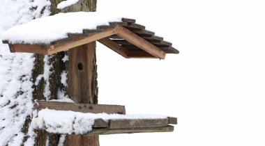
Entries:
{"label": "snow lying on the lower feeding tray", "polygon": [[34,128],[47,129],[50,133],[84,134],[92,130],[94,120],[110,119],[165,119],[163,115],[119,115],[107,113],[78,113],[74,111],[55,111],[43,109],[33,117],[31,122]]}

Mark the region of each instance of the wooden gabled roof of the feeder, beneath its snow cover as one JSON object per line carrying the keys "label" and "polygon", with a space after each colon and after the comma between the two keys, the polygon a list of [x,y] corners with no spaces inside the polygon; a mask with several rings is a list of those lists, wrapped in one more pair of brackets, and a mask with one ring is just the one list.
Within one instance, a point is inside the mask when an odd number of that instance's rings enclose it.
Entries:
{"label": "wooden gabled roof of the feeder, beneath its snow cover", "polygon": [[[82,17],[82,19],[85,18]],[[11,52],[36,54],[55,54],[93,41],[105,44],[105,46],[125,58],[163,59],[165,54],[179,54],[179,51],[172,47],[172,43],[164,41],[163,38],[156,36],[152,31],[147,31],[145,26],[135,22],[135,19],[122,18],[120,21],[109,22],[107,25],[98,25],[96,29],[85,29],[86,27],[84,27],[81,33],[67,33],[65,37],[59,40],[45,43],[41,40],[33,43],[16,40],[14,43],[10,38],[3,40],[3,43],[9,44]],[[49,28],[43,26],[42,29],[45,31]],[[27,35],[27,32],[23,35]]]}

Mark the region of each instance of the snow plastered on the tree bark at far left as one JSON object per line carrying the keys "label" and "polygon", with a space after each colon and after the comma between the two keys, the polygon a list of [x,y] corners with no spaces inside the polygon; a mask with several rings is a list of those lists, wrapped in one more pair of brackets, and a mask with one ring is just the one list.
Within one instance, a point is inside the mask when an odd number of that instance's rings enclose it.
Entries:
{"label": "snow plastered on the tree bark at far left", "polygon": [[[0,5],[0,36],[16,24],[49,15],[48,0],[2,0]],[[42,12],[43,10],[43,12]],[[41,13],[42,12],[42,13]],[[0,38],[0,145],[17,146],[25,136],[24,145],[33,145],[33,129],[22,132],[26,117],[32,113],[32,54],[10,54]]]}

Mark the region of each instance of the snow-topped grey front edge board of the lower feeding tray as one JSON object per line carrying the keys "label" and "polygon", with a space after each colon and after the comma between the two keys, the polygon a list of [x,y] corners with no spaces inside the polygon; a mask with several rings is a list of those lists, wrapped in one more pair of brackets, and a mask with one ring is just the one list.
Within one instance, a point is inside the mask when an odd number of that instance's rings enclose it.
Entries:
{"label": "snow-topped grey front edge board of the lower feeding tray", "polygon": [[163,127],[168,125],[168,119],[121,119],[109,120],[109,129]]}

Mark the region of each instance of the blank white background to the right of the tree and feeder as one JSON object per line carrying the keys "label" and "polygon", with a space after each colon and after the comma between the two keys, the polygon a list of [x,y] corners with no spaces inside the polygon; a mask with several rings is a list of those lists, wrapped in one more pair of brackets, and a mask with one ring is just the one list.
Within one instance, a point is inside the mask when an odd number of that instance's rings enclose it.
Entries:
{"label": "blank white background to the right of the tree and feeder", "polygon": [[98,0],[173,43],[165,60],[98,44],[100,104],[178,117],[172,133],[100,136],[102,146],[265,145],[265,1]]}

